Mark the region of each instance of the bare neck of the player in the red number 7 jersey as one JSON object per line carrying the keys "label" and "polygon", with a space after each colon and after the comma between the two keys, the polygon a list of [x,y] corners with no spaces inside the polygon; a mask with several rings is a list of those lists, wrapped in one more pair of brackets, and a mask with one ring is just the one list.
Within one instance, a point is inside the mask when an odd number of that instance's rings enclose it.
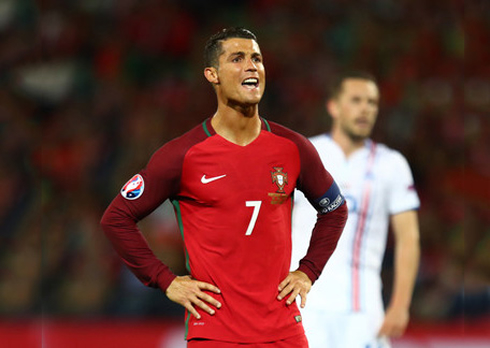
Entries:
{"label": "bare neck of the player in the red number 7 jersey", "polygon": [[259,136],[262,127],[258,108],[249,114],[230,108],[218,108],[211,119],[211,125],[217,134],[240,146],[253,142]]}

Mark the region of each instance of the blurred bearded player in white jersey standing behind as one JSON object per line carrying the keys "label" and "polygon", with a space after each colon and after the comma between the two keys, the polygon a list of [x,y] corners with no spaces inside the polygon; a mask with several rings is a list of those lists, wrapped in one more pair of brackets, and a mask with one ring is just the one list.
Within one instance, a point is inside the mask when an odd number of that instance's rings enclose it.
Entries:
{"label": "blurred bearded player in white jersey standing behind", "polygon": [[[349,217],[337,249],[302,310],[310,348],[386,348],[409,321],[419,265],[419,198],[399,152],[369,137],[379,90],[364,72],[340,76],[326,103],[330,133],[310,138],[346,198]],[[306,254],[316,211],[296,192],[292,268]],[[393,292],[386,312],[381,264],[391,224],[395,240]]]}

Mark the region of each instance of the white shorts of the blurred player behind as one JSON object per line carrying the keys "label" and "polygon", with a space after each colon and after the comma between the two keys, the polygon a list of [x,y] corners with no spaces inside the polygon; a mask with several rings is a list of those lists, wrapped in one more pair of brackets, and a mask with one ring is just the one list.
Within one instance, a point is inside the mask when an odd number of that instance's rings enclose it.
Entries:
{"label": "white shorts of the blurred player behind", "polygon": [[391,348],[387,337],[377,337],[382,314],[332,314],[307,305],[302,317],[310,348]]}

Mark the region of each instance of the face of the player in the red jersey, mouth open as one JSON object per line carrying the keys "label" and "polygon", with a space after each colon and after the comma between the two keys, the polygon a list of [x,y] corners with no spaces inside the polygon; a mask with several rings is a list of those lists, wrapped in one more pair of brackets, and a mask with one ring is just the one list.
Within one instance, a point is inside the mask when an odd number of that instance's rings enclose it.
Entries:
{"label": "face of the player in the red jersey, mouth open", "polygon": [[257,42],[233,38],[222,42],[219,66],[208,68],[206,78],[215,84],[218,99],[227,105],[247,107],[262,99],[265,69]]}

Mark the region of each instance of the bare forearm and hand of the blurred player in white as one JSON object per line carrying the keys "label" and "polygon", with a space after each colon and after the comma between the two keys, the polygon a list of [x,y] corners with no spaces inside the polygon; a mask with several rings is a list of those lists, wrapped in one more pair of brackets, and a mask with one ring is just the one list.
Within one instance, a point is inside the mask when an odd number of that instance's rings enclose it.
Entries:
{"label": "bare forearm and hand of the blurred player in white", "polygon": [[391,225],[395,237],[393,292],[379,336],[399,337],[403,335],[408,325],[410,303],[419,267],[417,211],[409,210],[392,215]]}

